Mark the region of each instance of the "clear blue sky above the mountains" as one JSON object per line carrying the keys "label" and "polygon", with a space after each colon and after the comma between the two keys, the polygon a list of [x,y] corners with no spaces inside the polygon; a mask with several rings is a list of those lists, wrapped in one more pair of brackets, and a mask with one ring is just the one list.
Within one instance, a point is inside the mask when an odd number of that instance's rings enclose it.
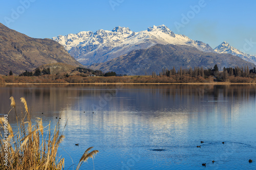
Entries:
{"label": "clear blue sky above the mountains", "polygon": [[[165,25],[176,34],[208,43],[223,41],[256,54],[254,0],[11,0],[0,1],[0,22],[34,38],[80,31],[132,31]],[[185,16],[185,17],[184,17]]]}

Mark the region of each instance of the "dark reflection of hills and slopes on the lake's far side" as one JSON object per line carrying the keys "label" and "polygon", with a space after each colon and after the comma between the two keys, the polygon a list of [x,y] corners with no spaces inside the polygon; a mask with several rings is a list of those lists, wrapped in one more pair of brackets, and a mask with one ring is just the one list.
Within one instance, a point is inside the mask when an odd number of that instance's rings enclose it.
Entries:
{"label": "dark reflection of hills and slopes on the lake's far side", "polygon": [[191,109],[204,112],[201,106],[207,102],[217,107],[234,101],[226,108],[231,114],[241,101],[255,99],[255,93],[255,85],[12,85],[0,88],[2,113],[10,109],[6,107],[10,105],[10,96],[14,96],[18,107],[19,99],[24,96],[32,112],[45,112],[49,116],[67,109],[93,112],[96,108],[98,112],[147,112],[148,116],[165,117]]}

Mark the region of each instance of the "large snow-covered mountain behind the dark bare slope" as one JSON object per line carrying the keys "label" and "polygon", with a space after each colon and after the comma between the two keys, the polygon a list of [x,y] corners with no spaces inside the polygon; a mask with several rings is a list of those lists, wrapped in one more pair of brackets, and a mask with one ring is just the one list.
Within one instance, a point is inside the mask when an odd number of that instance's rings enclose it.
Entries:
{"label": "large snow-covered mountain behind the dark bare slope", "polygon": [[200,51],[215,53],[208,44],[175,34],[164,25],[153,26],[140,32],[116,27],[112,31],[84,31],[66,36],[59,35],[52,39],[62,44],[71,56],[84,65],[109,61],[155,44],[189,45]]}

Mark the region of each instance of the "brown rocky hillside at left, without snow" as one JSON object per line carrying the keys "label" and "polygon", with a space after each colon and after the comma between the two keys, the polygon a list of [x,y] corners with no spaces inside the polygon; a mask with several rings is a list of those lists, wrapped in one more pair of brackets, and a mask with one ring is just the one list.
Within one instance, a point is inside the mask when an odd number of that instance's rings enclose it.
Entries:
{"label": "brown rocky hillside at left, without snow", "polygon": [[57,62],[81,66],[58,42],[31,38],[0,23],[0,74],[20,74]]}

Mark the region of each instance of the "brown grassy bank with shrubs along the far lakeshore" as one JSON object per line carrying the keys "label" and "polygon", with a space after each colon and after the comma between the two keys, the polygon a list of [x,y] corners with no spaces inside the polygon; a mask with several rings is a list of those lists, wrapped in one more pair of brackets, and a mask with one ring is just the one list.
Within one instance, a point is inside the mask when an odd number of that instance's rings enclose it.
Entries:
{"label": "brown grassy bank with shrubs along the far lakeshore", "polygon": [[[60,79],[61,78],[61,79]],[[220,82],[221,81],[221,82]],[[3,76],[0,84],[220,84],[220,83],[256,83],[255,78],[227,77],[226,81],[215,81],[214,77],[190,77],[188,75],[167,76],[124,76],[124,77],[58,77],[44,75],[39,77]]]}

